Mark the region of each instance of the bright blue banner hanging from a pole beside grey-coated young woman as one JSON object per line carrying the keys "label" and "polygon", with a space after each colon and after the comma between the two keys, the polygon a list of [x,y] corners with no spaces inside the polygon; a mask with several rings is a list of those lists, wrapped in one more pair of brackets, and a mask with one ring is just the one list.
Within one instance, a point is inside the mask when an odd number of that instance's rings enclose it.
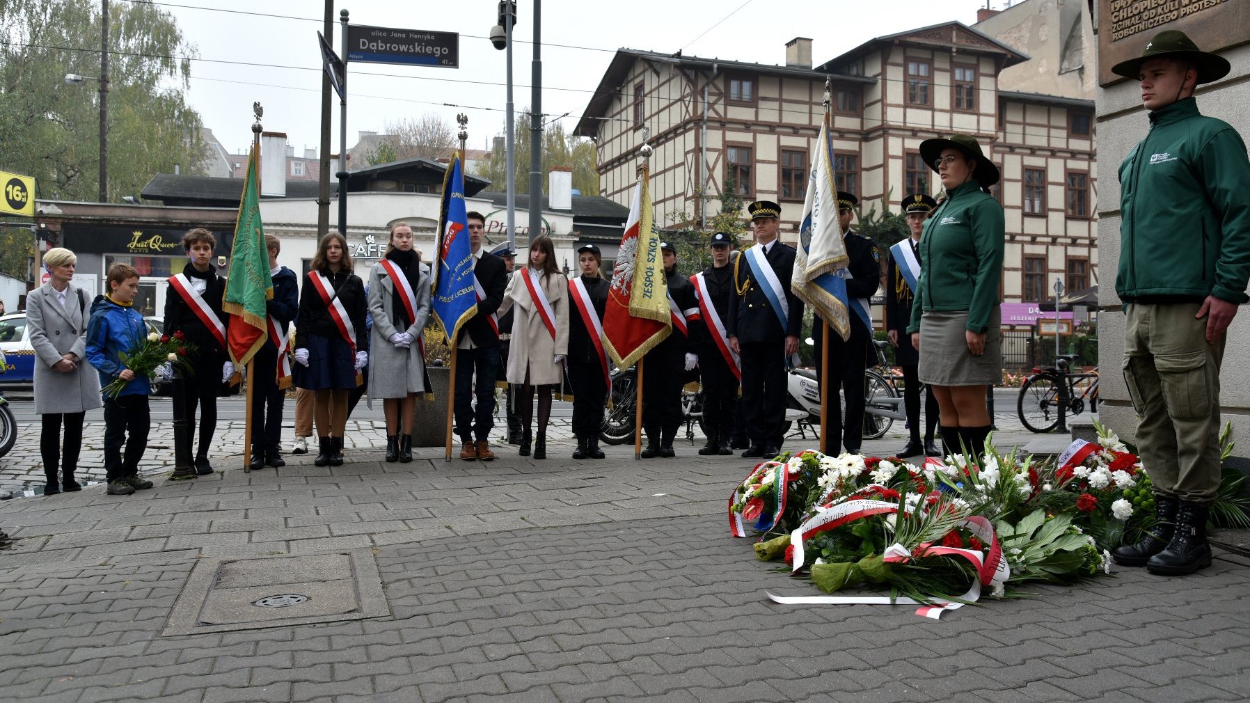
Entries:
{"label": "bright blue banner hanging from a pole beside grey-coated young woman", "polygon": [[472,250],[469,246],[469,221],[465,216],[465,179],[460,155],[451,156],[442,183],[439,241],[435,246],[432,300],[430,311],[442,328],[449,346],[455,345],[460,328],[478,305]]}

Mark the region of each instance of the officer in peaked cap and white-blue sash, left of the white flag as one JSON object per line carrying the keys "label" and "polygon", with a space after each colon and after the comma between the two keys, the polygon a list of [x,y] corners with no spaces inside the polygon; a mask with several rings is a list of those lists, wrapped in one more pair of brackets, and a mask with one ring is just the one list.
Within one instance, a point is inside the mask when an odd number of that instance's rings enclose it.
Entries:
{"label": "officer in peaked cap and white-blue sash, left of the white flag", "polygon": [[799,350],[802,301],[790,290],[794,246],[778,240],[781,206],[759,200],[748,213],[756,244],[734,260],[734,295],[725,326],[729,346],[742,362],[742,404],[751,442],[742,457],[771,458],[781,450],[785,360]]}

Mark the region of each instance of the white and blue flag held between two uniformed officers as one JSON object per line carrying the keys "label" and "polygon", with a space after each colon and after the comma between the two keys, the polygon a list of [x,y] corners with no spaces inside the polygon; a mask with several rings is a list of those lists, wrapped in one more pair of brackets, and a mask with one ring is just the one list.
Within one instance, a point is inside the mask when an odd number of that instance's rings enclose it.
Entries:
{"label": "white and blue flag held between two uniformed officers", "polygon": [[834,186],[834,144],[829,134],[829,113],[820,126],[816,148],[811,155],[808,195],[802,201],[802,226],[794,259],[790,288],[811,305],[832,329],[849,339],[846,245],[838,223],[838,189]]}

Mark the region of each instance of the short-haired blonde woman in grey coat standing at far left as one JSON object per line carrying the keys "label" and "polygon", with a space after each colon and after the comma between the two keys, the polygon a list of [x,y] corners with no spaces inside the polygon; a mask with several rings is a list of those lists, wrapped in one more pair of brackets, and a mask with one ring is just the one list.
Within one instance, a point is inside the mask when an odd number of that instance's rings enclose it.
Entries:
{"label": "short-haired blonde woman in grey coat standing at far left", "polygon": [[48,475],[44,495],[81,490],[74,472],[82,447],[82,417],[101,405],[100,377],[84,363],[91,301],[85,290],[70,283],[76,264],[78,256],[69,249],[50,249],[44,254],[50,280],[26,298],[26,325],[35,348],[35,412],[42,417],[39,453]]}

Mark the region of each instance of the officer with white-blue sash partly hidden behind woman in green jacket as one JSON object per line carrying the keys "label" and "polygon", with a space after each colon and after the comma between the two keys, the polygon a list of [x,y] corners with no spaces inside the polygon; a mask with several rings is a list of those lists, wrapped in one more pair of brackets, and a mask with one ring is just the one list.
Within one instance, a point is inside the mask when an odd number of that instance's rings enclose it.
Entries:
{"label": "officer with white-blue sash partly hidden behind woman in green jacket", "polygon": [[[908,283],[910,271],[909,263],[899,260],[898,255],[902,246],[911,251],[911,260],[920,263],[920,234],[924,230],[925,220],[932,213],[938,203],[922,194],[908,195],[902,203],[902,211],[908,216],[908,226],[911,228],[911,236],[896,244],[891,250],[890,266],[885,276],[885,328],[889,330],[890,344],[894,345],[894,359],[902,369],[902,405],[908,413],[908,428],[911,430],[911,439],[908,445],[899,452],[899,457],[941,457],[938,445],[934,444],[934,428],[938,424],[938,400],[930,389],[925,389],[925,442],[920,443],[920,377],[918,365],[920,354],[911,346],[911,335],[908,334],[908,325],[911,324],[911,301],[915,293],[911,290],[912,283]],[[910,271],[919,278],[919,269]]]}

